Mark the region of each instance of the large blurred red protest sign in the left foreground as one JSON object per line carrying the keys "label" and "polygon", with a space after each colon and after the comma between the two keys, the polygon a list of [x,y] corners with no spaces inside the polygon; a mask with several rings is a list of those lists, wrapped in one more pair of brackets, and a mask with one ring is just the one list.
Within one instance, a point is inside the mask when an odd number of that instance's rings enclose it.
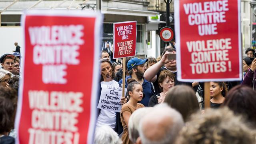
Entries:
{"label": "large blurred red protest sign in the left foreground", "polygon": [[16,116],[21,144],[93,143],[102,15],[28,11]]}

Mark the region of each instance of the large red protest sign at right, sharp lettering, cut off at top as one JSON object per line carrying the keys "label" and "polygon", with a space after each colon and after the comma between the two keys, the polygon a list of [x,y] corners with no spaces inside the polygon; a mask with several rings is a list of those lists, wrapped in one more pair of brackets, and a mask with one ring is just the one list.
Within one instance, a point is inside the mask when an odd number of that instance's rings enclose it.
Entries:
{"label": "large red protest sign at right, sharp lettering, cut off at top", "polygon": [[178,80],[241,80],[240,0],[175,0]]}

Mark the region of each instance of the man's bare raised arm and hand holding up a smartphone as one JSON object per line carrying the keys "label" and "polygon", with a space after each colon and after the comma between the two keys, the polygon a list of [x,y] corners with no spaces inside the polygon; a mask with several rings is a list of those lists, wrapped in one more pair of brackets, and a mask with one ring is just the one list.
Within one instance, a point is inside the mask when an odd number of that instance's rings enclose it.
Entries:
{"label": "man's bare raised arm and hand holding up a smartphone", "polygon": [[149,82],[155,82],[157,79],[156,74],[158,71],[164,66],[164,64],[170,62],[171,60],[168,60],[167,54],[172,54],[171,52],[166,52],[162,59],[154,64],[153,66],[150,66],[145,72],[144,72],[144,78]]}

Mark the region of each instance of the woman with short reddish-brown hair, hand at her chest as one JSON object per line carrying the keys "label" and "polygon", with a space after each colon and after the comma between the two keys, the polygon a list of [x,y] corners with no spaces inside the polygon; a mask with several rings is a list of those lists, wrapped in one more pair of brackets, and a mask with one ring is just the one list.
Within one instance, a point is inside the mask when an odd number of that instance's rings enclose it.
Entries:
{"label": "woman with short reddish-brown hair, hand at her chest", "polygon": [[170,70],[163,70],[160,72],[158,77],[159,88],[162,90],[161,93],[151,96],[148,106],[153,107],[158,103],[162,103],[166,92],[172,87],[174,87],[175,75],[170,72]]}

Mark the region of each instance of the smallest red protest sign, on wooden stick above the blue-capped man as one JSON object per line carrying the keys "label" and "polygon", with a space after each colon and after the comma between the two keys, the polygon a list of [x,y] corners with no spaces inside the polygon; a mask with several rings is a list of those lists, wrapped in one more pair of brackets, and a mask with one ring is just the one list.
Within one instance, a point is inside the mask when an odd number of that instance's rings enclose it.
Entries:
{"label": "smallest red protest sign, on wooden stick above the blue-capped man", "polygon": [[113,58],[135,56],[137,28],[136,21],[114,23]]}

